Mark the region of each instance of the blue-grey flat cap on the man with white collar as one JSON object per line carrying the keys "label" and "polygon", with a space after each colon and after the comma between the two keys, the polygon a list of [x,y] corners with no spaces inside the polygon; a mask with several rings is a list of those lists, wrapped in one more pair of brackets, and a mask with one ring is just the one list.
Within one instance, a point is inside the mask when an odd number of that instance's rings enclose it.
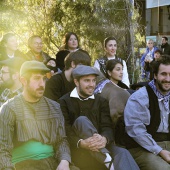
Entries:
{"label": "blue-grey flat cap on the man with white collar", "polygon": [[85,66],[85,65],[77,66],[72,72],[73,78],[79,78],[79,77],[87,76],[91,74],[96,75],[96,76],[99,75],[98,71],[95,70],[93,67]]}

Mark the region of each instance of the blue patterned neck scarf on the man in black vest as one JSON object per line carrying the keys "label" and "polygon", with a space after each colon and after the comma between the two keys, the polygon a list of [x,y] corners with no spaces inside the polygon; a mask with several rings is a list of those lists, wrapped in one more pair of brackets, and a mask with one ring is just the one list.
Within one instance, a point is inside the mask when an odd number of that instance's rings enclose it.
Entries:
{"label": "blue patterned neck scarf on the man in black vest", "polygon": [[149,86],[152,88],[152,90],[154,91],[154,93],[158,97],[158,101],[163,101],[163,104],[164,104],[166,110],[170,110],[170,108],[169,108],[170,92],[168,92],[166,95],[161,94],[157,90],[154,80],[149,82]]}

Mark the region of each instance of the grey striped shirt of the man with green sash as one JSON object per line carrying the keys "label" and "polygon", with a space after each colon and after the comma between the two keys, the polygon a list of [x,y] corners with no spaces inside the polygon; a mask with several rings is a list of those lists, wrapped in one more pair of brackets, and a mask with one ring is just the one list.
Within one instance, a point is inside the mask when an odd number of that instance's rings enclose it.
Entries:
{"label": "grey striped shirt of the man with green sash", "polygon": [[46,97],[29,103],[20,94],[0,108],[0,169],[14,168],[13,148],[32,139],[52,145],[58,161],[71,162],[59,104]]}

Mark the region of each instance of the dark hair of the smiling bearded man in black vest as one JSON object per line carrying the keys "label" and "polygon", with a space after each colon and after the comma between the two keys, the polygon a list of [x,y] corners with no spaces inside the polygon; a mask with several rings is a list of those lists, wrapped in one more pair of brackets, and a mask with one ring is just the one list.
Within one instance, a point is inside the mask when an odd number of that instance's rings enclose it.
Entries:
{"label": "dark hair of the smiling bearded man in black vest", "polygon": [[160,60],[154,61],[154,63],[153,63],[153,73],[155,75],[158,74],[159,66],[161,64],[163,64],[163,65],[170,65],[170,55],[162,55]]}

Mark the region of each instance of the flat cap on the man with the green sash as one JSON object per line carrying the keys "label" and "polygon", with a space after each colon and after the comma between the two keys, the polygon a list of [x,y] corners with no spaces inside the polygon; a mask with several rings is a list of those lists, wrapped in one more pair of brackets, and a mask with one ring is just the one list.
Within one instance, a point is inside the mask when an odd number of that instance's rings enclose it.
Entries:
{"label": "flat cap on the man with the green sash", "polygon": [[48,69],[43,62],[39,62],[36,60],[25,61],[21,66],[20,76],[23,76],[28,72],[34,72],[34,71],[47,73],[50,72],[50,69]]}

